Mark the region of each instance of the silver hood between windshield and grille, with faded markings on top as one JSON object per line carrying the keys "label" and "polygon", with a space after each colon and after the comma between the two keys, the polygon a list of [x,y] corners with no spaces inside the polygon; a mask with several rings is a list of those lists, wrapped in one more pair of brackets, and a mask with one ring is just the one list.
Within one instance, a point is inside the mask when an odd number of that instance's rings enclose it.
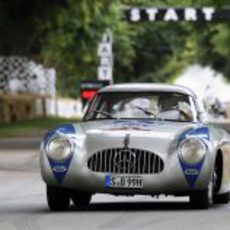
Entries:
{"label": "silver hood between windshield and grille, with faded markings on top", "polygon": [[[188,122],[103,120],[81,123],[87,152],[110,148],[138,148],[167,154],[180,136],[197,125]],[[128,136],[128,140],[127,140]],[[127,143],[128,142],[128,143]]]}

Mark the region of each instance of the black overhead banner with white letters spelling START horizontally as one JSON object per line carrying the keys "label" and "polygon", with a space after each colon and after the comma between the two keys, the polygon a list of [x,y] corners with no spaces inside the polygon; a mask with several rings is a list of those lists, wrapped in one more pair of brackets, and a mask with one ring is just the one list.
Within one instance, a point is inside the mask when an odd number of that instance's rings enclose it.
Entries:
{"label": "black overhead banner with white letters spelling START horizontally", "polygon": [[139,21],[212,21],[230,20],[230,10],[203,8],[128,8],[125,17],[130,22]]}

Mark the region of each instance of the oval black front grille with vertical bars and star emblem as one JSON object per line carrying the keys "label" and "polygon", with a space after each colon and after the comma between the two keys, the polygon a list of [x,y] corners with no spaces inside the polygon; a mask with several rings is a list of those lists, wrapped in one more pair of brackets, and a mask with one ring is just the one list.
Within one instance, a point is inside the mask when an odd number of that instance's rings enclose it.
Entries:
{"label": "oval black front grille with vertical bars and star emblem", "polygon": [[105,149],[88,159],[94,172],[118,174],[155,174],[164,169],[163,160],[155,153],[134,148]]}

